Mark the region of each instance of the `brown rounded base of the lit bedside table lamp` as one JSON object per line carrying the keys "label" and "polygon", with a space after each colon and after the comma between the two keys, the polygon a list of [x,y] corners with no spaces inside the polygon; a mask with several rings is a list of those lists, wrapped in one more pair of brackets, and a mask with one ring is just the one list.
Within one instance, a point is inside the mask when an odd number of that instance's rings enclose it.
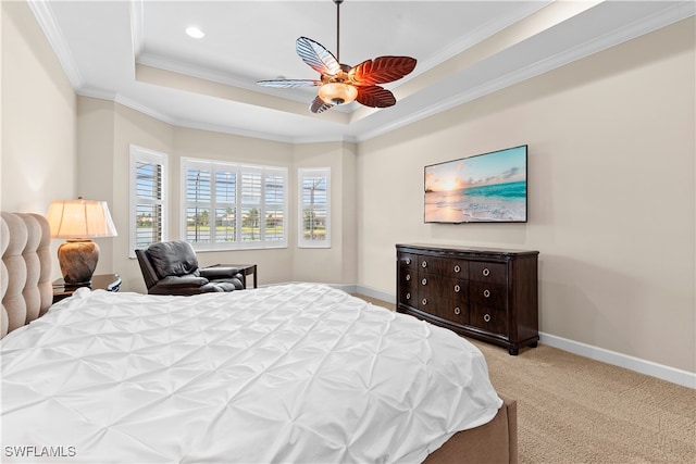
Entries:
{"label": "brown rounded base of the lit bedside table lamp", "polygon": [[66,286],[90,286],[98,261],[99,246],[90,239],[70,239],[58,248],[58,262]]}

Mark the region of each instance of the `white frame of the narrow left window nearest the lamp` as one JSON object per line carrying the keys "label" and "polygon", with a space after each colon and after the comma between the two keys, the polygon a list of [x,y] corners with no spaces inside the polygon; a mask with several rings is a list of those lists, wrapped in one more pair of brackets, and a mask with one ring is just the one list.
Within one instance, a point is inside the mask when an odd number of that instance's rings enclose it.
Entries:
{"label": "white frame of the narrow left window nearest the lamp", "polygon": [[[148,148],[139,147],[137,145],[129,145],[129,208],[128,208],[128,258],[136,258],[135,250],[137,248],[137,213],[138,204],[159,204],[161,206],[161,233],[159,241],[167,239],[166,221],[169,217],[167,211],[167,191],[169,191],[169,175],[167,175],[167,162],[169,155],[166,153],[150,150]],[[160,180],[160,199],[151,200],[144,197],[138,197],[137,192],[137,164],[149,163],[159,164],[161,166],[161,180]]]}

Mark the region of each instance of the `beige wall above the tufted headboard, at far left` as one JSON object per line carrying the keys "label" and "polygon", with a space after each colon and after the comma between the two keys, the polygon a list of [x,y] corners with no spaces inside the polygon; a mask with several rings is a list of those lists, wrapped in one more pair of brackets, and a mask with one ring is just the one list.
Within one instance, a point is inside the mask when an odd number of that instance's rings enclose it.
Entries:
{"label": "beige wall above the tufted headboard, at far left", "polygon": [[46,214],[76,198],[75,91],[29,7],[1,3],[1,206]]}

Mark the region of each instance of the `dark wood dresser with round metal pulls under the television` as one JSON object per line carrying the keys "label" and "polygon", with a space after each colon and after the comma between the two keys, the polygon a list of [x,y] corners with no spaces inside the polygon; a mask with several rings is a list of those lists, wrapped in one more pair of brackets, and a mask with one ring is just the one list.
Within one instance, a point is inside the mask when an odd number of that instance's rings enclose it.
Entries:
{"label": "dark wood dresser with round metal pulls under the television", "polygon": [[536,347],[538,251],[397,244],[397,311],[517,355]]}

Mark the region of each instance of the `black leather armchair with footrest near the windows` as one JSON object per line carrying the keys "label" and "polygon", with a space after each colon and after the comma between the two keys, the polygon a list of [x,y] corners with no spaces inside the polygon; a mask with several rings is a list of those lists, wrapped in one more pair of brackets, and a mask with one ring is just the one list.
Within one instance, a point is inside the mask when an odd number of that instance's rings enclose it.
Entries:
{"label": "black leather armchair with footrest near the windows", "polygon": [[243,288],[236,267],[199,267],[194,247],[187,241],[161,241],[135,250],[150,294],[197,294]]}

